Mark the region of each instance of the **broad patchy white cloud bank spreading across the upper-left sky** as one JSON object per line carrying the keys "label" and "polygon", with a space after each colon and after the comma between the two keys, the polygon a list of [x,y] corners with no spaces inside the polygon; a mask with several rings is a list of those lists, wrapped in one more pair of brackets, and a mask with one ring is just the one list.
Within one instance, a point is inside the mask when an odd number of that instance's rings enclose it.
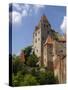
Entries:
{"label": "broad patchy white cloud bank spreading across the upper-left sky", "polygon": [[11,22],[12,19],[13,24],[19,24],[23,17],[31,16],[33,13],[37,14],[39,9],[43,7],[43,5],[12,4],[13,10],[9,13],[9,21]]}

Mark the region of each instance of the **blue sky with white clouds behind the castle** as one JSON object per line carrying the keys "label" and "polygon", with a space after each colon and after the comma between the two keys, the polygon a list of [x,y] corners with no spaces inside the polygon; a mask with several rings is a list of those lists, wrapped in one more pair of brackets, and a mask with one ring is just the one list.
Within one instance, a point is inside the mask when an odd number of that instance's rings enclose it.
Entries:
{"label": "blue sky with white clouds behind the castle", "polygon": [[36,5],[36,4],[10,4],[9,24],[12,25],[12,54],[32,45],[33,32],[42,15],[45,15],[51,27],[64,34],[66,32],[66,7]]}

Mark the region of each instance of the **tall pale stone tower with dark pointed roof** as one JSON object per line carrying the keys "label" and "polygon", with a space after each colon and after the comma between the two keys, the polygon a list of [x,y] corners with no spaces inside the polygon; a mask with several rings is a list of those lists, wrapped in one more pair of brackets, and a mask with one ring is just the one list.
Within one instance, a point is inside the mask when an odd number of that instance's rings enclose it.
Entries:
{"label": "tall pale stone tower with dark pointed roof", "polygon": [[33,51],[39,58],[39,65],[43,64],[43,43],[50,33],[51,25],[46,16],[41,16],[39,24],[33,33]]}

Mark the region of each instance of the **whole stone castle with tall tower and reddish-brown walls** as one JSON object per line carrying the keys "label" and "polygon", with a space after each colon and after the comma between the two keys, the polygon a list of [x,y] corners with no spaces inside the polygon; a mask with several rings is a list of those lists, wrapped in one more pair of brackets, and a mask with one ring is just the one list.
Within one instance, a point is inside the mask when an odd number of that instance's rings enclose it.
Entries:
{"label": "whole stone castle with tall tower and reddish-brown walls", "polygon": [[66,82],[66,38],[52,29],[47,17],[41,16],[33,33],[33,51],[38,65],[54,72],[59,83]]}

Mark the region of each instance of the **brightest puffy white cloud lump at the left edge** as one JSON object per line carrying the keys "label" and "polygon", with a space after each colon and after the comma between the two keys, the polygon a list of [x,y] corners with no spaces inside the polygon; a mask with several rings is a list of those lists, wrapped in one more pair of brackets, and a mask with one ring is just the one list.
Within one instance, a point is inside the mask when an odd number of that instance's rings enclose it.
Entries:
{"label": "brightest puffy white cloud lump at the left edge", "polygon": [[13,11],[12,12],[12,23],[13,24],[20,24],[21,21],[22,21],[21,13],[19,13],[17,11]]}

